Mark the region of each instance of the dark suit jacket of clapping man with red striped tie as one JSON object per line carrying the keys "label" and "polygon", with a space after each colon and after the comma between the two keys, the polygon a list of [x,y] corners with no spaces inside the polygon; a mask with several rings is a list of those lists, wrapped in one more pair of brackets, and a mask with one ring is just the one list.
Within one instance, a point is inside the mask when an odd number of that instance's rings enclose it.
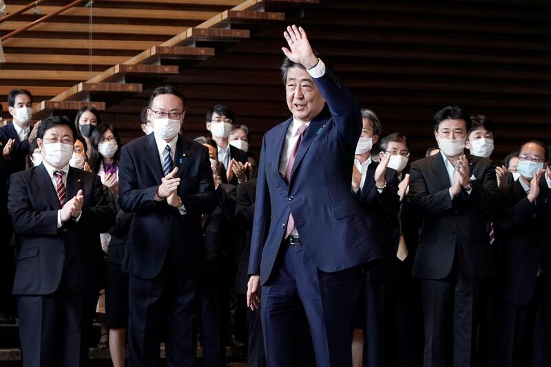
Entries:
{"label": "dark suit jacket of clapping man with red striped tie", "polygon": [[61,205],[45,167],[31,167],[11,177],[8,210],[17,248],[14,294],[51,294],[63,272],[73,293],[99,291],[99,253],[103,252],[99,233],[113,224],[114,210],[94,174],[70,167],[66,189],[67,200],[83,190],[83,210],[79,222],[69,220],[58,229]]}

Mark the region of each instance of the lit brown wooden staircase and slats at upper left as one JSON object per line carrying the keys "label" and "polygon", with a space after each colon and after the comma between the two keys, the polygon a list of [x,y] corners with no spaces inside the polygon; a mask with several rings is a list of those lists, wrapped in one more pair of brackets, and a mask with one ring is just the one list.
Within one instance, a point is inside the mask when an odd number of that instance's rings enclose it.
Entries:
{"label": "lit brown wooden staircase and slats at upper left", "polygon": [[[24,2],[12,3],[8,14]],[[74,114],[84,105],[105,110],[249,39],[251,31],[267,23],[284,21],[286,10],[309,3],[318,1],[96,0],[92,8],[70,8],[3,42],[0,95],[14,88],[30,90],[37,120]],[[39,15],[27,10],[0,23],[0,32],[16,30],[61,6],[40,5]],[[7,107],[5,100],[0,102]]]}

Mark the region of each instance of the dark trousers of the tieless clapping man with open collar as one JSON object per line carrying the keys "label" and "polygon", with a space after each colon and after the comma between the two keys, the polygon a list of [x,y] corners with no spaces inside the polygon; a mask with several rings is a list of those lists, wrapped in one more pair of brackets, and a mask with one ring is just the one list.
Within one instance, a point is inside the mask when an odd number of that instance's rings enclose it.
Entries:
{"label": "dark trousers of the tieless clapping man with open collar", "polygon": [[441,280],[421,280],[424,367],[468,367],[474,363],[481,280],[466,277],[456,255]]}

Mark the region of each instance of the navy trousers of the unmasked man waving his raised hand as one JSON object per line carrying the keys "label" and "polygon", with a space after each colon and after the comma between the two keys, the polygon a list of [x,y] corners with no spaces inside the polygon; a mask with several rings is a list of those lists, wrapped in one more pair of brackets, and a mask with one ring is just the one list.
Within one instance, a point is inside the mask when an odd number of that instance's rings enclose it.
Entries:
{"label": "navy trousers of the unmasked man waving his raised hand", "polygon": [[282,243],[271,279],[262,286],[264,348],[269,367],[302,366],[306,317],[318,367],[351,366],[357,269],[320,271],[302,246]]}

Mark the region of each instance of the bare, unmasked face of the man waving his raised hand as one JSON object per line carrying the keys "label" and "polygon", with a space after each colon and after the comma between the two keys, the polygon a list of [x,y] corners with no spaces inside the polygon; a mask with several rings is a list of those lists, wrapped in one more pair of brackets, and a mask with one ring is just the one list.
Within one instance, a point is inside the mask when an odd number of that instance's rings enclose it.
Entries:
{"label": "bare, unmasked face of the man waving his raised hand", "polygon": [[322,112],[325,99],[308,72],[300,67],[287,70],[287,107],[301,123],[308,123]]}

